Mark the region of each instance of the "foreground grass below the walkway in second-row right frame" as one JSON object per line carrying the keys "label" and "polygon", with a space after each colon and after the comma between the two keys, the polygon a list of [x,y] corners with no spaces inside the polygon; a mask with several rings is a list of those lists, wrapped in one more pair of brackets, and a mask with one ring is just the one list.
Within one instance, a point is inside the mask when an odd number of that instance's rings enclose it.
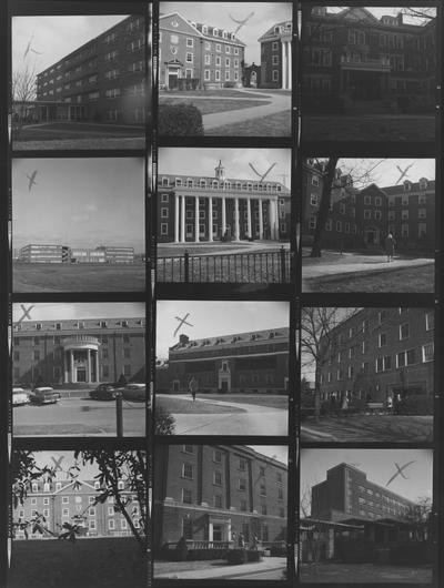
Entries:
{"label": "foreground grass below the walkway in second-row right frame", "polygon": [[[340,270],[340,268],[339,268]],[[303,280],[304,292],[433,292],[435,267],[431,263],[420,267],[393,271],[337,273]]]}

